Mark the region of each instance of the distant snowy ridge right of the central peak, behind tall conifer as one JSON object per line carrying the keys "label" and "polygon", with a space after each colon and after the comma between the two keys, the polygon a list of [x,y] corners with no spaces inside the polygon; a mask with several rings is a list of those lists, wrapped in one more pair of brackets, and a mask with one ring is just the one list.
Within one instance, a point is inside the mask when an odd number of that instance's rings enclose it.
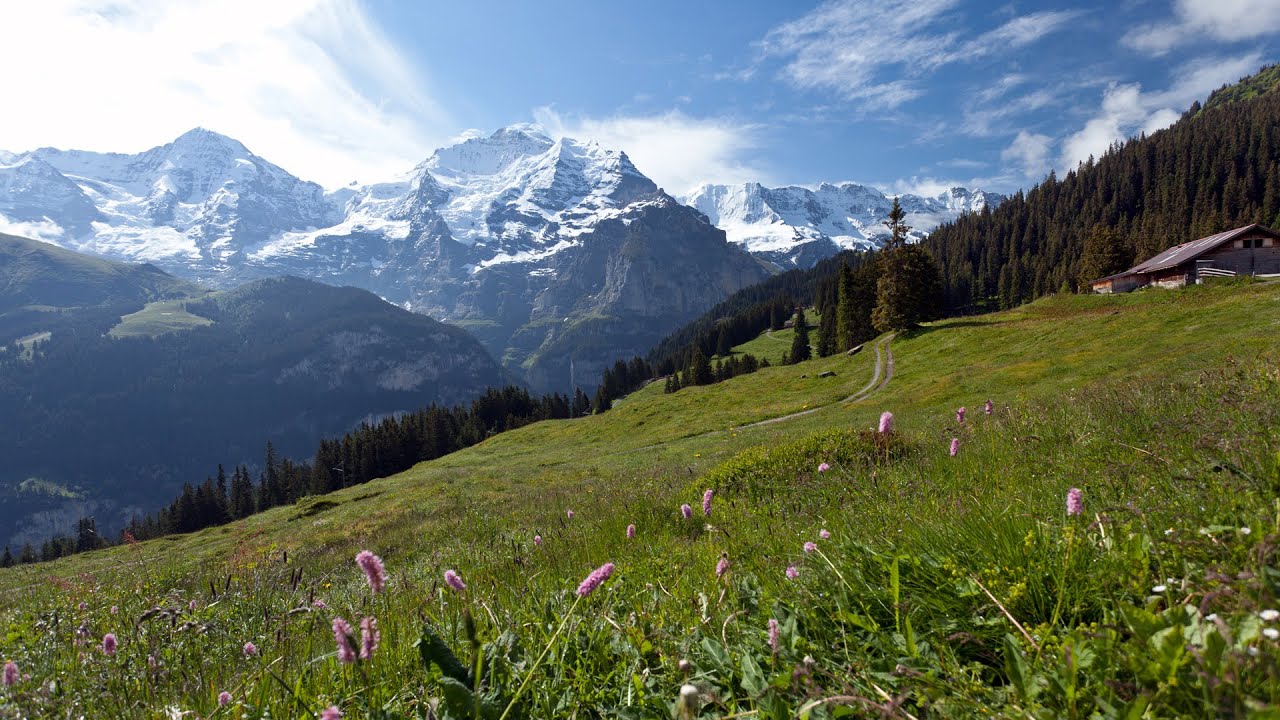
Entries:
{"label": "distant snowy ridge right of the central peak, behind tall conifer", "polygon": [[[724,231],[730,242],[783,265],[812,266],[841,250],[882,245],[893,199],[855,183],[764,187],[704,184],[682,199]],[[998,205],[1004,196],[952,187],[934,197],[901,195],[911,237],[919,240],[963,213]]]}

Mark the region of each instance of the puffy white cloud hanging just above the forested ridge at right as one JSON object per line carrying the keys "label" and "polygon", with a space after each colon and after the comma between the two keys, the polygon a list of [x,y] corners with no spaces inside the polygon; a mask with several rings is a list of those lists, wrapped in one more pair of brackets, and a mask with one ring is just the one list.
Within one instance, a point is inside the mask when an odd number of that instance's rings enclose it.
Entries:
{"label": "puffy white cloud hanging just above the forested ridge at right", "polygon": [[1172,73],[1178,82],[1160,92],[1146,94],[1139,83],[1111,83],[1102,94],[1098,113],[1062,142],[1059,167],[1074,169],[1089,155],[1102,156],[1114,142],[1169,127],[1192,101],[1256,70],[1261,61],[1257,53],[1239,58],[1201,58],[1178,68]]}

